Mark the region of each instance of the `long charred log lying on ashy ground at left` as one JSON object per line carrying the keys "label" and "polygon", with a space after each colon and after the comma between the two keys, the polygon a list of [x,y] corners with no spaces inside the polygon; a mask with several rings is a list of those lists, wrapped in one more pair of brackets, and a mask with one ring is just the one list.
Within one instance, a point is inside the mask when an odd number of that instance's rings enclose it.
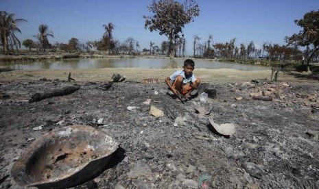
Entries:
{"label": "long charred log lying on ashy ground at left", "polygon": [[52,90],[51,92],[36,93],[32,95],[31,99],[29,99],[29,103],[41,101],[43,99],[47,99],[51,97],[69,95],[79,89],[80,89],[80,86],[66,86],[64,88]]}

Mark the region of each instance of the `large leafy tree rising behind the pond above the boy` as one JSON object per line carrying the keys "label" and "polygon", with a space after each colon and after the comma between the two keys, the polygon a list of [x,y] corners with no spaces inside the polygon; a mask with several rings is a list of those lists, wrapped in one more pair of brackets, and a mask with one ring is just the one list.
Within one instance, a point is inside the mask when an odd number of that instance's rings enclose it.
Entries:
{"label": "large leafy tree rising behind the pond above the boy", "polygon": [[152,16],[145,18],[145,29],[158,31],[160,35],[165,35],[169,39],[169,54],[172,55],[173,41],[182,35],[182,28],[191,23],[195,16],[200,14],[198,4],[194,0],[179,3],[174,0],[154,0],[148,6]]}

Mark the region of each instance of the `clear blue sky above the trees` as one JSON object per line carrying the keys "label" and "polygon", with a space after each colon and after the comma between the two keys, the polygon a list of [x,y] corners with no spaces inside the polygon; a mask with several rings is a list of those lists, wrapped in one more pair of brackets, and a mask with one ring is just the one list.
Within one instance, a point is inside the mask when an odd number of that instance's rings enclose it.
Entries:
{"label": "clear blue sky above the trees", "polygon": [[[152,0],[1,0],[1,10],[16,14],[28,22],[20,23],[21,41],[38,34],[38,26],[46,24],[53,31],[49,42],[67,43],[71,38],[80,42],[99,40],[104,34],[103,24],[115,25],[114,38],[124,42],[131,37],[139,41],[141,49],[150,41],[160,46],[166,36],[144,29],[143,15]],[[294,20],[303,18],[311,10],[319,10],[318,0],[197,0],[200,16],[184,28],[187,53],[192,52],[193,36],[204,42],[209,34],[213,42],[236,38],[236,45],[253,41],[258,47],[264,42],[284,44],[285,36],[300,31]]]}

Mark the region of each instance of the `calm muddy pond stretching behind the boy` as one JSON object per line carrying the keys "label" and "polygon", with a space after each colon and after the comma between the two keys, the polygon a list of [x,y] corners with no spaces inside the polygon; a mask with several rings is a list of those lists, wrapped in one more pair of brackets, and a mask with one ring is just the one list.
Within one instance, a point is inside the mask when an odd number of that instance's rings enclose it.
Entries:
{"label": "calm muddy pond stretching behind the boy", "polygon": [[[186,59],[186,58],[185,58]],[[185,59],[177,59],[182,66]],[[80,58],[72,60],[40,60],[36,62],[9,62],[1,63],[17,70],[64,70],[84,68],[163,68],[169,62],[168,58]],[[261,71],[268,70],[266,66],[253,66],[248,64],[224,63],[213,60],[195,60],[195,68],[233,68],[239,71]]]}

